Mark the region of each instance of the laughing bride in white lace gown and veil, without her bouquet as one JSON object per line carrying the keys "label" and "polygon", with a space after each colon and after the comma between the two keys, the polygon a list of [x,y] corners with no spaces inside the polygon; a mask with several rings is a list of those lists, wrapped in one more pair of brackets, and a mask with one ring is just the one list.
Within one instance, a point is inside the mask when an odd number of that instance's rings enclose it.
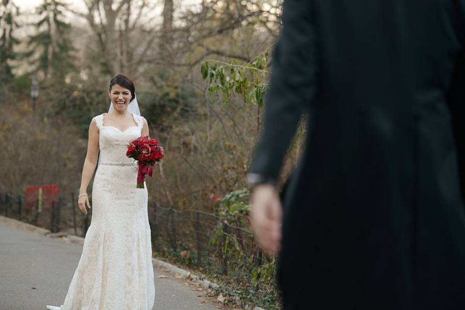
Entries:
{"label": "laughing bride in white lace gown and veil, without her bouquet", "polygon": [[[140,116],[134,84],[119,74],[109,85],[108,113],[89,126],[78,205],[91,208],[86,193],[92,187],[92,222],[78,267],[61,307],[48,310],[152,310],[155,300],[152,243],[147,214],[147,186],[136,188],[138,166],[126,157],[129,141],[148,136]],[[86,208],[87,207],[87,208]]]}

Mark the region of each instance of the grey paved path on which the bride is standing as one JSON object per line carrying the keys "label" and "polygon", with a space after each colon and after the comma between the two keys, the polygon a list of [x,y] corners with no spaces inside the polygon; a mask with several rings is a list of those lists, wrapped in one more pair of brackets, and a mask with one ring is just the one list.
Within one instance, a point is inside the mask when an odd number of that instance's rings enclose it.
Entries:
{"label": "grey paved path on which the bride is standing", "polygon": [[[60,306],[82,246],[0,222],[0,310],[46,310]],[[154,268],[153,310],[214,310],[203,293],[183,279]],[[160,275],[167,279],[158,278]]]}

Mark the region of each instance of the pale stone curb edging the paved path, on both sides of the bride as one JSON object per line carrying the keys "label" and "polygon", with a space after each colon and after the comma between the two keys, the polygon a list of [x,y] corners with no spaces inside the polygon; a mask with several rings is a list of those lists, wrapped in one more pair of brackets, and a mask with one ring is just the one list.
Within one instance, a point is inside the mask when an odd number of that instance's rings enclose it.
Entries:
{"label": "pale stone curb edging the paved path, on both sides of the bride", "polygon": [[[77,243],[77,244],[80,244],[80,245],[84,245],[84,239],[85,238],[79,237],[79,236],[76,236],[76,235],[73,235],[73,234],[60,233],[60,232],[59,233],[52,233],[48,229],[45,229],[45,228],[42,228],[42,227],[37,227],[37,226],[34,226],[32,224],[25,223],[25,222],[19,221],[19,220],[14,219],[14,218],[4,217],[4,216],[0,216],[0,222],[5,223],[7,225],[14,226],[16,228],[23,228],[23,229],[26,229],[26,230],[28,230],[30,232],[33,232],[33,233],[39,233],[39,234],[45,235],[45,236],[47,236],[49,238],[63,238],[64,237],[64,238],[66,238],[68,241],[70,241],[72,243]],[[217,289],[217,288],[220,287],[215,282],[207,280],[207,279],[205,279],[205,278],[203,278],[201,276],[196,276],[193,273],[191,273],[190,271],[179,268],[179,267],[177,267],[175,265],[172,265],[171,263],[167,263],[165,261],[161,261],[161,260],[153,258],[153,257],[152,257],[152,263],[155,266],[163,267],[163,268],[165,268],[165,269],[167,269],[167,270],[169,270],[169,271],[171,271],[171,272],[173,272],[175,274],[178,274],[183,278],[188,278],[191,281],[194,281],[196,283],[200,283],[204,289]],[[252,307],[250,305],[244,305],[244,303],[242,303],[240,298],[237,297],[237,296],[233,298],[233,303],[235,305],[239,306],[239,307],[243,307],[243,309],[245,309],[245,310],[264,310],[264,309],[262,309],[260,307]]]}

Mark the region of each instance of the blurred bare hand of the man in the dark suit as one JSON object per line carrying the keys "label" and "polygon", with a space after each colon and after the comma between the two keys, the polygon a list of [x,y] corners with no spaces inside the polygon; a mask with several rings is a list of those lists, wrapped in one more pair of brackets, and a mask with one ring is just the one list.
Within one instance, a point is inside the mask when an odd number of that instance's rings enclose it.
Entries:
{"label": "blurred bare hand of the man in the dark suit", "polygon": [[281,249],[282,207],[274,186],[263,184],[254,188],[250,222],[255,239],[267,253]]}

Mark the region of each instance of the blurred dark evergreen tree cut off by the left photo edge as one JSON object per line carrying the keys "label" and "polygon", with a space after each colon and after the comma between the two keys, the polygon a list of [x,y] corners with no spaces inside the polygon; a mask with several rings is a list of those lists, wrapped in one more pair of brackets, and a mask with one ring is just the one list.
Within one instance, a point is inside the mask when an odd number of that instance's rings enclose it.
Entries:
{"label": "blurred dark evergreen tree cut off by the left photo edge", "polygon": [[13,31],[18,27],[15,17],[19,9],[11,0],[0,1],[0,82],[5,84],[13,78],[8,61],[15,59],[13,46],[19,43],[13,36]]}

